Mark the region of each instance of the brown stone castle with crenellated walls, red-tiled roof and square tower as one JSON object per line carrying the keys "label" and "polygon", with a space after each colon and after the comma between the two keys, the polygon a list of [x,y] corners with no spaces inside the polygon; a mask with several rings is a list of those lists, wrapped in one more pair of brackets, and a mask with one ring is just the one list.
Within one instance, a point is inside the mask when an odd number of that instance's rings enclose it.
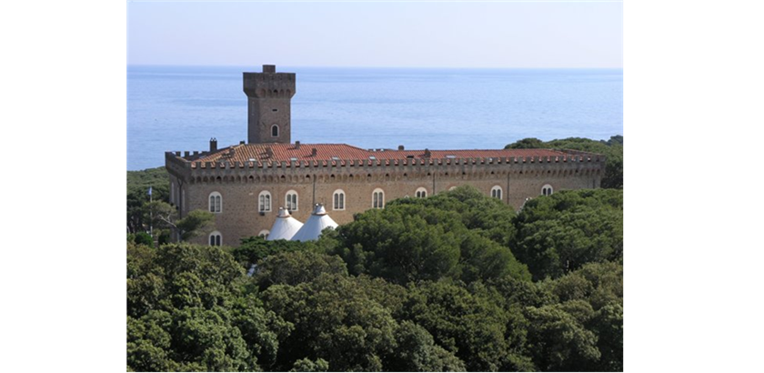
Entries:
{"label": "brown stone castle with crenellated walls, red-tiled roof and square tower", "polygon": [[292,143],[291,99],[297,76],[244,73],[247,142],[207,151],[166,152],[170,202],[185,216],[206,209],[216,230],[196,238],[209,245],[267,236],[279,207],[307,221],[323,204],[337,223],[397,198],[435,195],[475,186],[518,209],[532,197],[558,190],[596,188],[605,157],[553,149],[361,149],[345,144]]}

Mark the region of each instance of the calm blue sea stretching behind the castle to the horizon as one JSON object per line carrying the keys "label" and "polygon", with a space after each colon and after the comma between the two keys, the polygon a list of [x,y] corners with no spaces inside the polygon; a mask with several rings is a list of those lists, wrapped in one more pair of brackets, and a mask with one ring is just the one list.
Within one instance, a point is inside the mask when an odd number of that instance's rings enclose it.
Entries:
{"label": "calm blue sea stretching behind the castle to the horizon", "polygon": [[[242,71],[128,66],[127,169],[167,150],[246,140]],[[297,73],[292,141],[364,148],[501,148],[524,137],[624,135],[623,69],[281,67]]]}

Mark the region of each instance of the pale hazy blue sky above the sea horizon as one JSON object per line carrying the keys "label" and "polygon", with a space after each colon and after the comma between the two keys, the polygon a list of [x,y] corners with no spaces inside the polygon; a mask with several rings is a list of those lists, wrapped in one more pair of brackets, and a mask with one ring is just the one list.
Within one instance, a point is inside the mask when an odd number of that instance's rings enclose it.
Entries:
{"label": "pale hazy blue sky above the sea horizon", "polygon": [[621,2],[127,2],[127,64],[623,67]]}

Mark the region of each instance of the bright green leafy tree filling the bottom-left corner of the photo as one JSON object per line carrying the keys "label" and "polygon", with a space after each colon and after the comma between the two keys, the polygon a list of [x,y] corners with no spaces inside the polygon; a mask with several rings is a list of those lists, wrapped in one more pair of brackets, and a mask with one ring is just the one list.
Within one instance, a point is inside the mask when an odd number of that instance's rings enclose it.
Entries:
{"label": "bright green leafy tree filling the bottom-left corner of the photo", "polygon": [[127,243],[127,368],[255,371],[276,359],[291,325],[242,287],[219,247]]}

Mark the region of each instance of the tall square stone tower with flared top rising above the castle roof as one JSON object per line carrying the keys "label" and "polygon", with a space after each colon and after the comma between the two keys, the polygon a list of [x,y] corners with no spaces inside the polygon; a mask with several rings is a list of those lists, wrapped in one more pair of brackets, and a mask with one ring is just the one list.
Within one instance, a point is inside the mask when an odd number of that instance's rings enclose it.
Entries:
{"label": "tall square stone tower with flared top rising above the castle roof", "polygon": [[250,144],[292,142],[295,79],[294,73],[276,73],[274,65],[263,65],[262,73],[244,73]]}

